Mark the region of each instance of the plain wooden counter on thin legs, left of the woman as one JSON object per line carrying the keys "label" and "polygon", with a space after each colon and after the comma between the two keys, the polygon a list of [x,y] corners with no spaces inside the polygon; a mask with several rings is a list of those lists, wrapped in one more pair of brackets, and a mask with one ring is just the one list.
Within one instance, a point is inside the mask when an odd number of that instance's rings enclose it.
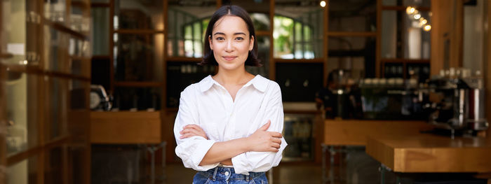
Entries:
{"label": "plain wooden counter on thin legs, left of the woman", "polygon": [[90,143],[161,143],[161,112],[90,112]]}

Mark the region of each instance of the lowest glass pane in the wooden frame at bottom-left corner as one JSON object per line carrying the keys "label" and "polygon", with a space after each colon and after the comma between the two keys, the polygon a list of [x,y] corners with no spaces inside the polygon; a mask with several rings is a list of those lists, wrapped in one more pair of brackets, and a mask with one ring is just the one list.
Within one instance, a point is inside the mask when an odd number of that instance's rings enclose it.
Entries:
{"label": "lowest glass pane in the wooden frame at bottom-left corner", "polygon": [[7,184],[37,183],[38,167],[37,156],[29,157],[26,160],[22,160],[7,167]]}

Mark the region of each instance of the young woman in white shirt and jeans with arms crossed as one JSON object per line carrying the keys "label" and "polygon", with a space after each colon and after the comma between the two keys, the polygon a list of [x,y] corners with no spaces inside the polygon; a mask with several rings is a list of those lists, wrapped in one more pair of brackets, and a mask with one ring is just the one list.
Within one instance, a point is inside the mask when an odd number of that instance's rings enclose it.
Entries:
{"label": "young woman in white shirt and jeans with arms crossed", "polygon": [[260,66],[253,22],[243,8],[223,6],[206,29],[201,65],[218,66],[182,91],[175,153],[199,171],[194,183],[267,183],[287,143],[277,83],[245,71]]}

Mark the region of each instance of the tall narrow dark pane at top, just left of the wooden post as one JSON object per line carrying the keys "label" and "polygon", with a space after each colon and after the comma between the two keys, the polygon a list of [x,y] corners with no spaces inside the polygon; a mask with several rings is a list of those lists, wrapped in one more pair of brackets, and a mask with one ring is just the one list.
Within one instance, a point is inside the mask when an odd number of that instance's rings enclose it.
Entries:
{"label": "tall narrow dark pane at top, just left of the wooden post", "polygon": [[109,8],[90,8],[93,55],[109,55]]}

